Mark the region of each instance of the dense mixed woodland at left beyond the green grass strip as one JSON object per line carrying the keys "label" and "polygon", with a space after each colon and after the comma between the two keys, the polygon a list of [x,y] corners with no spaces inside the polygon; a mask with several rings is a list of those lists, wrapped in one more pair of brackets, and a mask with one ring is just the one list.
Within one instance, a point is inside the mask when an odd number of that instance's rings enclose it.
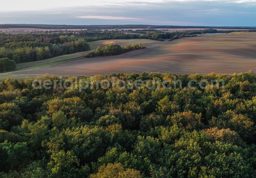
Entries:
{"label": "dense mixed woodland at left beyond the green grass strip", "polygon": [[0,58],[9,58],[16,63],[48,59],[65,54],[90,50],[85,39],[73,33],[0,33]]}

